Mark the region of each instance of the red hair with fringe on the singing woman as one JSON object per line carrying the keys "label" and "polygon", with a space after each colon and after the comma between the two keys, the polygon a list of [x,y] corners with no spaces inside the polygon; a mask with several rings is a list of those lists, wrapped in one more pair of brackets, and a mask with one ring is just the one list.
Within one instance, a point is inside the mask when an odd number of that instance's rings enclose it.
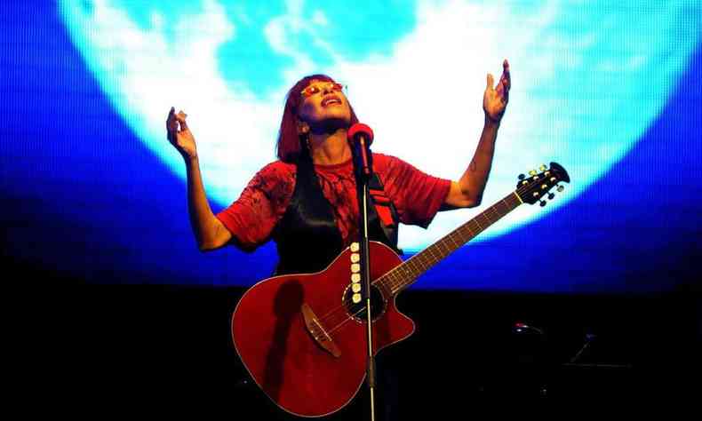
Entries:
{"label": "red hair with fringe on the singing woman", "polygon": [[[302,104],[302,90],[309,86],[313,80],[334,82],[328,75],[308,75],[303,77],[291,87],[285,97],[285,109],[283,110],[283,120],[280,122],[280,131],[278,131],[278,141],[275,146],[275,154],[278,159],[285,163],[297,163],[300,154],[307,154],[307,139],[304,135],[298,133],[298,112],[299,106]],[[349,127],[358,123],[358,118],[355,116],[354,108],[351,104],[348,105],[351,110],[351,123]]]}

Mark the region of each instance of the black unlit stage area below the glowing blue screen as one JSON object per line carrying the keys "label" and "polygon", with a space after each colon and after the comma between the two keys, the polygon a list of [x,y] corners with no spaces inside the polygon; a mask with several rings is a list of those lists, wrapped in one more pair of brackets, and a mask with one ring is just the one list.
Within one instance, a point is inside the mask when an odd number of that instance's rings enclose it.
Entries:
{"label": "black unlit stage area below the glowing blue screen", "polygon": [[[30,411],[271,418],[229,337],[243,289],[80,284],[25,273],[44,281],[20,301],[20,363],[11,364],[36,402]],[[698,400],[698,291],[408,290],[398,306],[417,323],[411,338],[382,352],[399,367],[403,419],[538,414],[561,404],[578,412],[677,410]],[[515,322],[542,334],[516,332]]]}

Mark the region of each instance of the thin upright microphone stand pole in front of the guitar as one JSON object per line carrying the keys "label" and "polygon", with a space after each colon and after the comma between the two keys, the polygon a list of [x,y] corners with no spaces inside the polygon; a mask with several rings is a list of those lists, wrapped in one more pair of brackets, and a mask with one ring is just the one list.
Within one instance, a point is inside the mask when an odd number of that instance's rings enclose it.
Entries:
{"label": "thin upright microphone stand pole in front of the guitar", "polygon": [[367,356],[368,365],[366,369],[366,378],[368,378],[368,390],[371,399],[371,421],[375,421],[375,357],[373,355],[373,325],[371,312],[371,256],[368,245],[368,199],[369,187],[368,183],[373,175],[372,171],[372,155],[369,147],[366,147],[366,139],[359,139],[355,142],[354,162],[356,187],[358,192],[358,209],[361,218],[360,227],[360,249],[361,249],[361,276],[363,284],[363,298],[365,299],[366,308],[366,338],[367,338]]}

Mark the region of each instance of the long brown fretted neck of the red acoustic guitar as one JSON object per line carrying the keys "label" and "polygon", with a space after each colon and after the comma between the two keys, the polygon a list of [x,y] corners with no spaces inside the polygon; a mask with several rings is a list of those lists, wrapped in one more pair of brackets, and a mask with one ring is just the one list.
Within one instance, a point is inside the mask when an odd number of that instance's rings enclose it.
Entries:
{"label": "long brown fretted neck of the red acoustic guitar", "polygon": [[498,203],[446,234],[442,239],[407,259],[402,265],[395,267],[373,283],[382,284],[383,290],[389,290],[395,296],[417,281],[419,275],[427,272],[429,268],[475,238],[477,234],[482,233],[488,226],[497,222],[507,213],[514,211],[520,204],[522,204],[522,199],[516,192],[507,195]]}

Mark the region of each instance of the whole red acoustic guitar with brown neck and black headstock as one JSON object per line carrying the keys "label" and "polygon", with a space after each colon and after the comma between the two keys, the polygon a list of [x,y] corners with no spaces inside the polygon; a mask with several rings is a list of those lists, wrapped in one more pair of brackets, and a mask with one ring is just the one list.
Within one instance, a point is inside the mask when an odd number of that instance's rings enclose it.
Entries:
{"label": "whole red acoustic guitar with brown neck and black headstock", "polygon": [[[408,338],[414,322],[395,297],[430,267],[523,203],[546,204],[559,182],[570,182],[558,163],[520,176],[514,192],[427,249],[403,261],[381,242],[370,242],[373,350]],[[342,409],[366,375],[366,314],[358,243],[315,274],[286,274],[247,290],[235,308],[232,335],[244,367],[268,398],[300,417]]]}

